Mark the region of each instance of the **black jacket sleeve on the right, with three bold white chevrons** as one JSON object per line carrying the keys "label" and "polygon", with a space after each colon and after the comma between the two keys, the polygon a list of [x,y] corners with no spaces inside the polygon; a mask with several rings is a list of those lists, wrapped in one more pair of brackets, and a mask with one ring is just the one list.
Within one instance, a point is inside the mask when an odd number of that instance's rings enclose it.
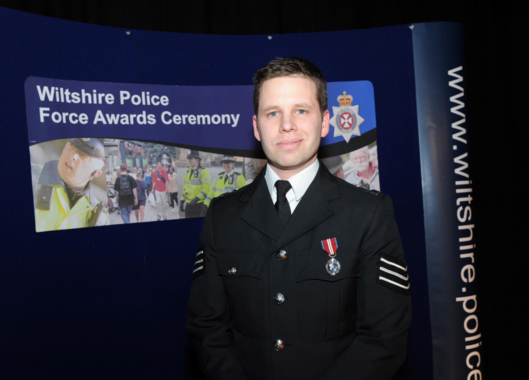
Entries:
{"label": "black jacket sleeve on the right, with three bold white chevrons", "polygon": [[324,380],[389,380],[406,357],[409,276],[391,199],[378,196],[384,198],[361,245],[356,337],[329,367]]}

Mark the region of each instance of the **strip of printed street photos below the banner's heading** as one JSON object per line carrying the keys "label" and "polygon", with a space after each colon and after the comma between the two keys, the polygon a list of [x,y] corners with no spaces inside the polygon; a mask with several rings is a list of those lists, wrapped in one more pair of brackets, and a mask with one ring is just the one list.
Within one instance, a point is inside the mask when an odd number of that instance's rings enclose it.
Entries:
{"label": "strip of printed street photos below the banner's heading", "polygon": [[[203,217],[212,199],[251,183],[266,165],[108,138],[48,141],[31,146],[30,156],[37,232]],[[321,162],[336,177],[380,191],[376,141]]]}

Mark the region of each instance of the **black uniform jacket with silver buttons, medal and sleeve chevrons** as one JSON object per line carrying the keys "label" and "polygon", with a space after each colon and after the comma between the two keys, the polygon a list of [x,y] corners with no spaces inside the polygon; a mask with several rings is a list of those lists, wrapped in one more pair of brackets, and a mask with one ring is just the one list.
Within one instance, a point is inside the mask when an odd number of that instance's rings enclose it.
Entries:
{"label": "black uniform jacket with silver buttons, medal and sleeve chevrons", "polygon": [[263,172],[216,198],[193,276],[187,328],[208,379],[390,379],[406,355],[409,282],[391,200],[321,163],[285,227]]}

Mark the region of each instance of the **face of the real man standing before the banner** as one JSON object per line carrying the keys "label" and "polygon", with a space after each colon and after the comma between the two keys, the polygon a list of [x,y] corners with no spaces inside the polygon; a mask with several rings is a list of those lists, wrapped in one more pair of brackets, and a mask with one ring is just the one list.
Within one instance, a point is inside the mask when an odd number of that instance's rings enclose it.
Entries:
{"label": "face of the real man standing before the banner", "polygon": [[329,132],[329,111],[322,114],[316,85],[304,77],[268,79],[261,86],[254,136],[268,162],[288,179],[316,160]]}

